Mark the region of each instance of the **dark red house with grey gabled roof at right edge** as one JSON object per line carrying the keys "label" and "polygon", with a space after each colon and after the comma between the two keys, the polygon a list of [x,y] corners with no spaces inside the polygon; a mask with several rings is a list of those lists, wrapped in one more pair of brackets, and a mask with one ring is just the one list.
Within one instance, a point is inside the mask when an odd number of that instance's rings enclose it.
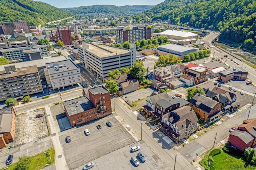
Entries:
{"label": "dark red house with grey gabled roof at right edge", "polygon": [[244,151],[256,144],[256,119],[244,120],[228,137],[230,145]]}

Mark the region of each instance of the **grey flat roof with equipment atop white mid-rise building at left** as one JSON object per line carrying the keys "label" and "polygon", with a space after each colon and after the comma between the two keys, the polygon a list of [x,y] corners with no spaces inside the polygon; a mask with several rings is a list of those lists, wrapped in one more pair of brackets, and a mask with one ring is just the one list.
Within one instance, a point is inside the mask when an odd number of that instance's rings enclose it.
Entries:
{"label": "grey flat roof with equipment atop white mid-rise building at left", "polygon": [[78,66],[76,66],[70,60],[58,61],[54,63],[46,63],[45,67],[46,68],[44,70],[48,70],[49,74],[78,69]]}

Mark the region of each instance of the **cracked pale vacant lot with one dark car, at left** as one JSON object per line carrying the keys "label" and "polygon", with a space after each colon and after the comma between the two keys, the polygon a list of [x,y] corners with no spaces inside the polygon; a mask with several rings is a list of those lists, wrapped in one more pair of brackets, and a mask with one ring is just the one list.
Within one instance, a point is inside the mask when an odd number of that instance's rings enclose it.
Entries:
{"label": "cracked pale vacant lot with one dark car, at left", "polygon": [[44,114],[44,109],[27,111],[17,116],[14,146],[32,142],[49,135],[45,115],[36,118],[38,114]]}

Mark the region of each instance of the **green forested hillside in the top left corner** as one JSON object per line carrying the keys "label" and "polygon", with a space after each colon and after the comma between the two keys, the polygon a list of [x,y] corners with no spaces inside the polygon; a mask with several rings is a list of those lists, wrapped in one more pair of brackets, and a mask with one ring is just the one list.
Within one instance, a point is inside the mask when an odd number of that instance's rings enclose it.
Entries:
{"label": "green forested hillside in the top left corner", "polygon": [[0,22],[28,21],[30,26],[72,16],[54,6],[33,0],[0,0]]}

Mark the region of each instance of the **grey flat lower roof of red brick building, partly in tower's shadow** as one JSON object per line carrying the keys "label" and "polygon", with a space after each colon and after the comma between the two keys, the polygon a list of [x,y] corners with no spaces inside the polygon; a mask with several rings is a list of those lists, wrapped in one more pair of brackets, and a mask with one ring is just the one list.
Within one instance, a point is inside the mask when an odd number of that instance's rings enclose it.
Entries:
{"label": "grey flat lower roof of red brick building, partly in tower's shadow", "polygon": [[65,106],[67,114],[69,116],[76,115],[78,113],[95,108],[95,106],[86,96],[72,99],[69,101],[64,101],[63,105]]}

